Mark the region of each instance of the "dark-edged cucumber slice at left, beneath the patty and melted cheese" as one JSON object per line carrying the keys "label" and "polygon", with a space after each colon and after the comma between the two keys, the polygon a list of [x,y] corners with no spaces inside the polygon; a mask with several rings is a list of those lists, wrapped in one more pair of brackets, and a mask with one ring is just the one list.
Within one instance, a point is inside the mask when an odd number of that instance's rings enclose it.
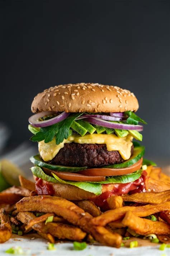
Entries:
{"label": "dark-edged cucumber slice at left, beneath the patty and melted cheese", "polygon": [[84,167],[72,167],[72,166],[64,166],[64,165],[52,165],[51,163],[44,162],[39,155],[30,157],[30,161],[34,163],[34,165],[38,165],[40,167],[44,167],[50,170],[56,171],[67,171],[67,172],[76,172],[87,169],[87,166]]}

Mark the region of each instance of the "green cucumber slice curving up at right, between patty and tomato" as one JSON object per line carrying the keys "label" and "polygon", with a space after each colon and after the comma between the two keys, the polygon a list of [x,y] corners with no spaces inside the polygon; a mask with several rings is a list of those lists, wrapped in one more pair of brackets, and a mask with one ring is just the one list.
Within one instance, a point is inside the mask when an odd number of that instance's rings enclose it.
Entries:
{"label": "green cucumber slice curving up at right, between patty and tomato", "polygon": [[104,167],[101,167],[101,168],[116,168],[116,169],[126,168],[126,167],[129,167],[129,166],[133,165],[137,161],[139,161],[144,154],[145,154],[145,147],[143,147],[143,146],[135,147],[133,149],[133,155],[128,160],[126,160],[125,162],[118,163],[116,165],[107,165],[107,166],[104,166]]}

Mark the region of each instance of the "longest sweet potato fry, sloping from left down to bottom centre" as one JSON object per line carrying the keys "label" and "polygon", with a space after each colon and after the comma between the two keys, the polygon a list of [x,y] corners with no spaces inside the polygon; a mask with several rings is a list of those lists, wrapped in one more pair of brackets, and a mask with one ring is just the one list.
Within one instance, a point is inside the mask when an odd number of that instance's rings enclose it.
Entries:
{"label": "longest sweet potato fry, sloping from left down to bottom centre", "polygon": [[49,212],[50,209],[52,213],[62,216],[70,223],[80,226],[85,232],[89,232],[96,241],[108,246],[119,247],[121,245],[122,237],[119,234],[110,233],[100,226],[94,227],[90,222],[93,217],[66,199],[51,196],[25,197],[16,203],[16,208],[19,211],[40,212]]}

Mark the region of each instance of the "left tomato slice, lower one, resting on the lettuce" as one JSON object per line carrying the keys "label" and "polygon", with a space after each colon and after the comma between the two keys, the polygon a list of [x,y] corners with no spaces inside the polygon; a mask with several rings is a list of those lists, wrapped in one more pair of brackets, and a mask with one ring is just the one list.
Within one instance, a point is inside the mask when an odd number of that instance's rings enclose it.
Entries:
{"label": "left tomato slice, lower one, resting on the lettuce", "polygon": [[85,176],[82,174],[78,174],[77,172],[65,172],[65,171],[51,171],[55,175],[58,176],[58,178],[63,180],[74,180],[74,181],[102,181],[106,180],[106,177],[104,176]]}

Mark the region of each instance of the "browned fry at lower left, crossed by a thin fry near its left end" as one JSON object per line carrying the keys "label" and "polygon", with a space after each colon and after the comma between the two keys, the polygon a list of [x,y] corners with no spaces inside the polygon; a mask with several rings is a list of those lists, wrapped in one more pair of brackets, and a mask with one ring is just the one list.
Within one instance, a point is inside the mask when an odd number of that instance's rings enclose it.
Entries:
{"label": "browned fry at lower left, crossed by a thin fry near its left end", "polygon": [[[31,212],[19,212],[16,218],[22,223],[28,224],[30,220],[36,219],[36,216]],[[80,228],[76,228],[74,226],[62,223],[37,223],[32,226],[32,228],[41,233],[50,233],[51,235],[58,237],[59,239],[81,241],[86,235],[86,233],[83,232]]]}

